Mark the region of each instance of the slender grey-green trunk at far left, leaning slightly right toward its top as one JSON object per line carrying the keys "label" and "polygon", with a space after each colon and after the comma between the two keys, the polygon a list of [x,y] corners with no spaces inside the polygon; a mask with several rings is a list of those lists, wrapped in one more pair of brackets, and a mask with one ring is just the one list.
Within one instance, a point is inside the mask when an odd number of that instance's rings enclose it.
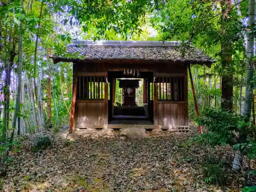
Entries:
{"label": "slender grey-green trunk at far left, leaning slightly right toward its top", "polygon": [[[21,5],[23,7],[23,0],[21,0]],[[17,94],[15,99],[15,111],[14,117],[12,121],[12,129],[16,128],[16,121],[18,117],[18,113],[20,111],[20,89],[22,86],[22,67],[23,67],[23,37],[22,37],[22,22],[20,22],[19,26],[19,44],[18,44],[18,85],[17,85]],[[20,119],[18,121],[20,123]],[[18,124],[18,135],[20,135],[20,124]]]}

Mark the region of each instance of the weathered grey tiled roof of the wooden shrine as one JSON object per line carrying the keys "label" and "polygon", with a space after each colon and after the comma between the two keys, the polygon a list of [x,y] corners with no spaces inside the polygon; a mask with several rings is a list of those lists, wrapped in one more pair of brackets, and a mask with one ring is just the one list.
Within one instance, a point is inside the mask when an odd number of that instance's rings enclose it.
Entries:
{"label": "weathered grey tiled roof of the wooden shrine", "polygon": [[[145,60],[190,63],[214,62],[203,51],[193,46],[182,46],[180,41],[76,41],[67,47],[71,56],[53,55],[58,61],[68,60]],[[67,54],[66,54],[67,55]],[[78,55],[73,57],[72,55]]]}

